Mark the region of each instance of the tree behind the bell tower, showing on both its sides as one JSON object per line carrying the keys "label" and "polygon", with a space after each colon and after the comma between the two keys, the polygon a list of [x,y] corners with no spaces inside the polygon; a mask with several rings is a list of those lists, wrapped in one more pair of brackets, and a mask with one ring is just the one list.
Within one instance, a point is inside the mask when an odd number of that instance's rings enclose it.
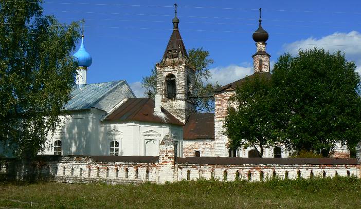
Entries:
{"label": "tree behind the bell tower, showing on both its sides", "polygon": [[[207,83],[208,79],[212,78],[212,75],[209,71],[209,65],[214,61],[208,58],[209,52],[203,50],[203,48],[189,49],[188,57],[189,61],[195,68],[194,74],[194,90],[193,96],[199,96],[193,99],[195,104],[195,110],[197,112],[212,112],[214,111],[214,101],[213,101],[213,91],[216,88],[221,87],[221,85],[216,82],[215,84]],[[142,87],[146,89],[144,95],[148,95],[149,89],[152,92],[154,97],[157,79],[156,79],[156,69],[155,67],[151,70],[151,75],[143,77],[141,81]],[[211,96],[211,97],[203,97]]]}

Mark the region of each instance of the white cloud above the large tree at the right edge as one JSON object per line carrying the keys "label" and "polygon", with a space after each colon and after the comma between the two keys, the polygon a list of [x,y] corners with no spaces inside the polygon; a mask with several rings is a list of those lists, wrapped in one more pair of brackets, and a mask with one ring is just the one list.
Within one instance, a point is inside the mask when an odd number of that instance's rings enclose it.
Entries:
{"label": "white cloud above the large tree at the right edge", "polygon": [[361,33],[357,31],[349,33],[335,32],[320,39],[309,37],[308,39],[284,44],[283,50],[296,55],[298,49],[313,49],[314,47],[323,48],[331,53],[337,50],[345,52],[346,59],[355,61],[356,66],[358,66],[356,71],[361,71]]}

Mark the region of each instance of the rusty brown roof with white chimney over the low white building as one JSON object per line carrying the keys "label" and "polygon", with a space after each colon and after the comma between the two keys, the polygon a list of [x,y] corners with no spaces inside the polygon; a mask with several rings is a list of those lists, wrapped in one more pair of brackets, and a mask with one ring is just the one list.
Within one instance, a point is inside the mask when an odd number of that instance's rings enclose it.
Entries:
{"label": "rusty brown roof with white chimney over the low white building", "polygon": [[156,115],[154,100],[150,98],[130,98],[107,115],[104,121],[142,121],[184,125],[163,107],[161,114]]}

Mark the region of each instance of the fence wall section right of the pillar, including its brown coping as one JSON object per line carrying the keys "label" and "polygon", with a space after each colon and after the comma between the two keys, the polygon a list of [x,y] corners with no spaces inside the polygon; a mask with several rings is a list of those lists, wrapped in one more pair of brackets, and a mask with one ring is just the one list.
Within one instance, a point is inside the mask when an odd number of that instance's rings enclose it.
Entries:
{"label": "fence wall section right of the pillar, including its brown coping", "polygon": [[193,157],[179,158],[176,165],[178,181],[199,178],[262,181],[273,177],[297,179],[360,175],[360,166],[355,159]]}

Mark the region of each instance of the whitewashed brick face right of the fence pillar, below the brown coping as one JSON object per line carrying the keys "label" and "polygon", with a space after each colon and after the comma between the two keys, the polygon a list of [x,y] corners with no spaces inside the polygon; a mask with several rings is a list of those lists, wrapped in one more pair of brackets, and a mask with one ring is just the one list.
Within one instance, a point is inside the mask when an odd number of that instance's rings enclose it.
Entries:
{"label": "whitewashed brick face right of the fence pillar, below the brown coping", "polygon": [[[218,179],[226,181],[236,180],[237,172],[239,179],[249,181],[266,180],[278,176],[282,179],[356,176],[359,177],[359,165],[200,165],[200,164],[177,164],[177,180]],[[188,173],[190,173],[188,175]],[[287,173],[287,174],[286,174]],[[288,177],[286,177],[288,175]],[[188,178],[189,177],[189,178]]]}

